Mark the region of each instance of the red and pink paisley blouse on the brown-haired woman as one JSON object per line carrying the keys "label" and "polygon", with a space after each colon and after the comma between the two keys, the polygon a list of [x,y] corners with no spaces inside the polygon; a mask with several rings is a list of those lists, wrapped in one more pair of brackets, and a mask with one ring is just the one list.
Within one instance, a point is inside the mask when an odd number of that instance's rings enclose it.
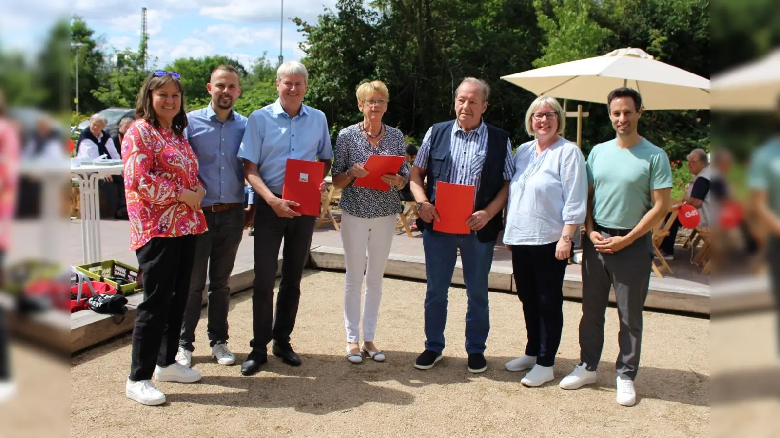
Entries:
{"label": "red and pink paisley blouse on the brown-haired woman", "polygon": [[155,237],[206,231],[203,210],[179,201],[184,189],[201,184],[197,156],[186,138],[139,119],[122,139],[122,157],[130,249],[139,249]]}

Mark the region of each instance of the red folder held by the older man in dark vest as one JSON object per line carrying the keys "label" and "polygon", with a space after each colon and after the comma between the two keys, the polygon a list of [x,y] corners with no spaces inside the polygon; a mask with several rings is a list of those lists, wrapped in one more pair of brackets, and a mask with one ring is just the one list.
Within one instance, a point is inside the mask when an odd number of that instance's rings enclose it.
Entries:
{"label": "red folder held by the older man in dark vest", "polygon": [[469,234],[471,228],[466,225],[474,212],[473,185],[436,182],[436,211],[441,221],[434,219],[434,230],[443,233]]}

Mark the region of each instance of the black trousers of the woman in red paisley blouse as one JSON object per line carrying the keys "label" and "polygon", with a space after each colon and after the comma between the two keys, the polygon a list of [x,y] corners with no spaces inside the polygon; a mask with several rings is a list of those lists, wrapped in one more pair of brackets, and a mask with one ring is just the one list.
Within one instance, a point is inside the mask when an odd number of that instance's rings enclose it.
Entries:
{"label": "black trousers of the woman in red paisley blouse", "polygon": [[144,302],[138,305],[133,327],[130,380],[149,380],[155,365],[176,362],[196,239],[195,235],[156,237],[136,250]]}

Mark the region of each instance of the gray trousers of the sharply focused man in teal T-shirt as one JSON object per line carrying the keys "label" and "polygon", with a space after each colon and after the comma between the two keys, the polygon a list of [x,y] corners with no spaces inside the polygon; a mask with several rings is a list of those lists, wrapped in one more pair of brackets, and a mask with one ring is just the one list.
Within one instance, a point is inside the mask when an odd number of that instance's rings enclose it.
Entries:
{"label": "gray trousers of the sharply focused man in teal T-shirt", "polygon": [[[601,231],[601,235],[611,237],[606,231]],[[588,371],[597,369],[604,346],[609,290],[614,287],[620,320],[620,353],[615,366],[622,379],[634,380],[642,345],[642,310],[650,288],[651,233],[612,254],[597,252],[590,238],[583,238],[583,241],[580,361],[587,363]]]}

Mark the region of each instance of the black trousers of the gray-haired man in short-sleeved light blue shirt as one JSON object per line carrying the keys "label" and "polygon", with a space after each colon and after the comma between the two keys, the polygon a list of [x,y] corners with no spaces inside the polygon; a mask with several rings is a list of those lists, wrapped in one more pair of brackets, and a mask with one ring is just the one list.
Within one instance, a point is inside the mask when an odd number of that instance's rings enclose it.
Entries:
{"label": "black trousers of the gray-haired man in short-sleeved light blue shirt", "polygon": [[[252,334],[250,347],[265,351],[271,339],[288,343],[295,327],[300,300],[300,279],[311,247],[317,217],[278,217],[262,198],[255,197],[254,291],[252,295]],[[282,253],[282,282],[279,284],[274,316],[274,284],[278,253]]]}

